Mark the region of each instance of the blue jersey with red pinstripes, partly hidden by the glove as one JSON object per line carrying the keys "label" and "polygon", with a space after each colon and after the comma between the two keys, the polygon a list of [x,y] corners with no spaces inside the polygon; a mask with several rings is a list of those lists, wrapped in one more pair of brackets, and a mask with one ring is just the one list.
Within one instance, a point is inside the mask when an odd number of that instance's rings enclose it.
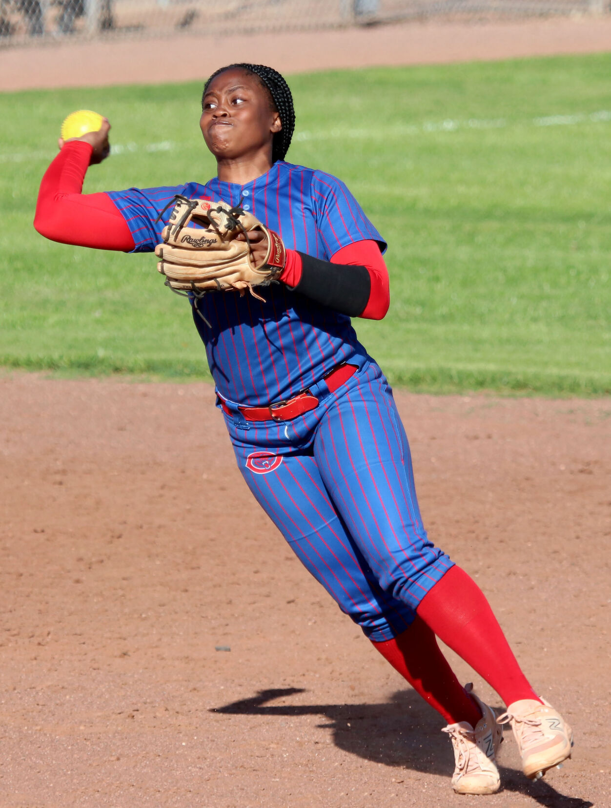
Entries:
{"label": "blue jersey with red pinstripes, partly hidden by the glove", "polygon": [[[330,260],[343,246],[365,239],[386,243],[348,188],[323,171],[279,161],[245,185],[208,183],[129,188],[109,196],[129,225],[135,252],[161,242],[175,194],[238,204],[280,234],[288,249]],[[211,292],[198,303],[210,326],[194,312],[217,391],[256,406],[290,398],[339,362],[367,356],[350,318],[291,292],[284,284],[263,288],[262,303],[238,292]]]}

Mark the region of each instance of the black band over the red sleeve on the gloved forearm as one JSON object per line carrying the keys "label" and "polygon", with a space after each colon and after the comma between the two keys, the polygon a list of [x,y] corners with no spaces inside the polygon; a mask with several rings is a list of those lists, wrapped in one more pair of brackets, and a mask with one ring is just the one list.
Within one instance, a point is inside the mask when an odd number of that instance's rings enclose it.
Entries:
{"label": "black band over the red sleeve on the gloved forearm", "polygon": [[364,311],[371,293],[371,278],[367,267],[331,263],[300,252],[301,280],[293,286],[310,300],[335,309],[348,317],[358,317]]}

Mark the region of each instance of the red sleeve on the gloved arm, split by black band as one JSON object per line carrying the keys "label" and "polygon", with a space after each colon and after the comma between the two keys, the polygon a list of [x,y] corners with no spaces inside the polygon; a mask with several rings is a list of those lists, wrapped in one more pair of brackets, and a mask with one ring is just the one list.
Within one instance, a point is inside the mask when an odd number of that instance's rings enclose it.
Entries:
{"label": "red sleeve on the gloved arm, split by black band", "polygon": [[[366,240],[342,247],[330,263],[365,267],[369,274],[369,299],[359,317],[381,320],[388,311],[390,291],[388,270],[377,242]],[[286,266],[280,275],[284,284],[295,288],[301,280],[301,255],[297,250],[286,250]]]}

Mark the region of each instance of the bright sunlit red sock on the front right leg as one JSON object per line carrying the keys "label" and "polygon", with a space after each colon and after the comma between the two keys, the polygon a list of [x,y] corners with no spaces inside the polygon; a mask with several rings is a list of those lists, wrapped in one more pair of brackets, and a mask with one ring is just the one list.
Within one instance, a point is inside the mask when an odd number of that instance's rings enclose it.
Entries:
{"label": "bright sunlit red sock on the front right leg", "polygon": [[416,611],[506,705],[520,699],[541,701],[520,670],[486,596],[460,567],[451,567]]}

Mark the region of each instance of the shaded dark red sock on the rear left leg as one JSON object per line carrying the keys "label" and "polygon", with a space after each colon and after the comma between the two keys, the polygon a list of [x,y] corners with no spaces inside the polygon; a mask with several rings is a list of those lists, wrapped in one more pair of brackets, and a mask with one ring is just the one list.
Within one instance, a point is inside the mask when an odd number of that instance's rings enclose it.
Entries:
{"label": "shaded dark red sock on the rear left leg", "polygon": [[374,642],[373,647],[449,724],[466,721],[475,726],[482,718],[441,653],[435,634],[419,617],[394,640]]}

